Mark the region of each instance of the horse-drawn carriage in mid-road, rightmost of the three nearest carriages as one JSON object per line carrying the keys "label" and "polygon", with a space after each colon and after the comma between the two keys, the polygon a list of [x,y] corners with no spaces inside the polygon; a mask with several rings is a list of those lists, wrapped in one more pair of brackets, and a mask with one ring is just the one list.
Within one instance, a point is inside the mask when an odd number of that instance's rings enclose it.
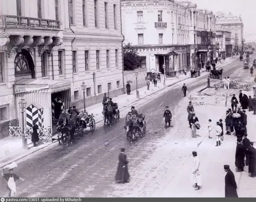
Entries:
{"label": "horse-drawn carriage in mid-road, rightmost of the three nearest carriages", "polygon": [[125,133],[127,141],[133,143],[142,137],[145,137],[146,134],[146,121],[145,115],[139,114],[138,117],[136,114],[129,112],[125,118]]}

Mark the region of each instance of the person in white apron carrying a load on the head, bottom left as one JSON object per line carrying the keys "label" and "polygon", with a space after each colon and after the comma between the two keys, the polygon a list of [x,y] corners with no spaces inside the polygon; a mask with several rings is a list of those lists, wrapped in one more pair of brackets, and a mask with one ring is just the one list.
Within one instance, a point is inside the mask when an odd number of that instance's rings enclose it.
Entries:
{"label": "person in white apron carrying a load on the head, bottom left", "polygon": [[9,190],[8,196],[12,198],[16,194],[16,180],[22,180],[19,175],[13,173],[13,168],[9,169],[9,173],[4,174],[4,168],[2,169],[2,176],[7,182],[7,189]]}

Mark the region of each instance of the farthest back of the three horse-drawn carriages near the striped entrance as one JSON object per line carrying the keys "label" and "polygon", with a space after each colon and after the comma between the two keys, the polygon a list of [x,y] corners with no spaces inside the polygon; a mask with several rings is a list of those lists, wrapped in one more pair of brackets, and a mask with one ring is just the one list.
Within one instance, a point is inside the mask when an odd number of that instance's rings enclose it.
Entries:
{"label": "farthest back of the three horse-drawn carriages near the striped entrance", "polygon": [[102,114],[104,119],[104,125],[106,125],[106,123],[112,123],[113,120],[115,120],[115,123],[120,120],[120,111],[118,109],[117,103],[113,103],[113,105],[110,105],[108,103],[104,104]]}

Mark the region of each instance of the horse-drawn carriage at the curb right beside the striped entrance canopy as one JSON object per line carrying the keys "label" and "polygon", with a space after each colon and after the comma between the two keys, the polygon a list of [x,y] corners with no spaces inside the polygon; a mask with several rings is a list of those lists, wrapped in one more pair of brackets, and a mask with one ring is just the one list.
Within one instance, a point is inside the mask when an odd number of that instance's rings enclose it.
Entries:
{"label": "horse-drawn carriage at the curb right beside the striped entrance canopy", "polygon": [[[63,116],[57,123],[58,141],[60,145],[74,143],[75,136],[81,134],[84,136],[84,132],[87,127],[90,127],[90,131],[95,131],[94,116],[88,115],[88,118],[72,115],[70,118]],[[52,139],[54,140],[54,139]]]}

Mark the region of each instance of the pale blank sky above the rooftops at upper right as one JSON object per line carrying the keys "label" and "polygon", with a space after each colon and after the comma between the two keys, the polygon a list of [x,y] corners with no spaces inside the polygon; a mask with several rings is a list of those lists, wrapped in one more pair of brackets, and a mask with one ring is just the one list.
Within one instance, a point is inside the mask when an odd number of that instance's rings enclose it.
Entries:
{"label": "pale blank sky above the rooftops at upper right", "polygon": [[197,8],[207,9],[212,12],[231,12],[233,15],[239,16],[243,19],[244,35],[256,33],[256,0],[189,0],[196,3]]}

